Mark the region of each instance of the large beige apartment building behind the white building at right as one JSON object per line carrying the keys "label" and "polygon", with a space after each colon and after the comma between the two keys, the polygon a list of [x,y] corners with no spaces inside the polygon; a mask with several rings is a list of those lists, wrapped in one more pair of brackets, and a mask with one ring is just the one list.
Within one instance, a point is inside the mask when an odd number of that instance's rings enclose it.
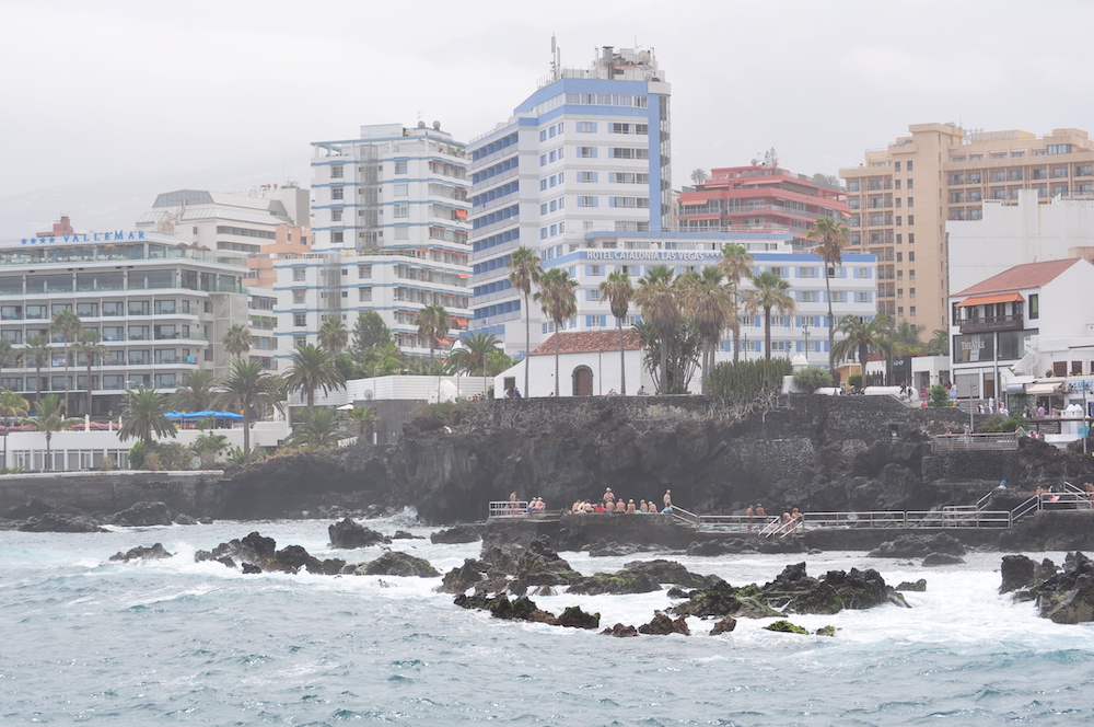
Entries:
{"label": "large beige apartment building behind the white building at right", "polygon": [[1041,201],[1094,198],[1094,143],[1079,129],[1044,137],[954,124],[908,130],[840,176],[851,216],[848,252],[877,256],[878,312],[922,325],[926,339],[947,327],[946,222],[980,219],[985,199],[1008,204],[1020,189]]}

